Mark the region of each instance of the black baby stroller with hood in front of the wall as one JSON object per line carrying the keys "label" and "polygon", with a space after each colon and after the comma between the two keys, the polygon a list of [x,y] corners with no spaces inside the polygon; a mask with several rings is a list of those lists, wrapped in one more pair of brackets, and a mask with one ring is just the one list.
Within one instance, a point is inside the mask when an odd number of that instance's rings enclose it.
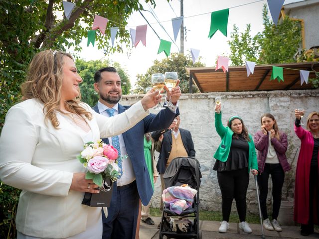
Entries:
{"label": "black baby stroller with hood in front of the wall", "polygon": [[[201,239],[201,232],[199,232],[199,187],[200,187],[200,165],[196,158],[193,157],[177,157],[174,158],[167,167],[163,179],[165,188],[171,186],[180,186],[182,184],[188,184],[193,189],[197,190],[194,197],[192,207],[182,211],[181,214],[169,210],[169,208],[163,208],[163,213],[160,223],[160,239],[163,236],[167,238],[193,238]],[[187,232],[173,232],[169,217],[190,217],[194,218],[193,224],[190,226]]]}

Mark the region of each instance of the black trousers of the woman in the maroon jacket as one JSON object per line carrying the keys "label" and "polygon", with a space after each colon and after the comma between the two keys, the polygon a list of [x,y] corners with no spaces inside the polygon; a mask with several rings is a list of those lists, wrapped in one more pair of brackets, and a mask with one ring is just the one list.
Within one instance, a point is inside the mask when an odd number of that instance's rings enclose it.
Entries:
{"label": "black trousers of the woman in the maroon jacket", "polygon": [[268,179],[271,175],[273,183],[273,214],[272,219],[276,219],[279,214],[281,204],[281,193],[285,180],[285,172],[280,163],[265,163],[264,171],[257,176],[259,191],[260,191],[260,208],[264,220],[268,218],[267,214],[267,194],[268,194]]}

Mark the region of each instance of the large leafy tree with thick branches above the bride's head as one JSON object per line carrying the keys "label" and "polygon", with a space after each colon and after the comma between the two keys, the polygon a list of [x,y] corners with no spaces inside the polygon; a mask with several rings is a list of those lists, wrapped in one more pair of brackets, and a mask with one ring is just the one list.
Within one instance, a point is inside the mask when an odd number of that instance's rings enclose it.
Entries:
{"label": "large leafy tree with thick branches above the bride's head", "polygon": [[[69,0],[70,1],[70,0]],[[87,37],[94,15],[107,17],[107,27],[119,26],[119,44],[109,45],[110,30],[105,36],[96,34],[96,45],[105,53],[122,51],[130,47],[130,34],[125,29],[129,16],[143,9],[139,0],[73,0],[76,7],[69,20],[63,13],[62,0],[1,0],[0,1],[0,129],[4,116],[20,98],[20,84],[25,79],[28,63],[34,54],[43,49],[66,50]],[[155,5],[155,0],[146,0]],[[120,23],[118,23],[120,22]]]}

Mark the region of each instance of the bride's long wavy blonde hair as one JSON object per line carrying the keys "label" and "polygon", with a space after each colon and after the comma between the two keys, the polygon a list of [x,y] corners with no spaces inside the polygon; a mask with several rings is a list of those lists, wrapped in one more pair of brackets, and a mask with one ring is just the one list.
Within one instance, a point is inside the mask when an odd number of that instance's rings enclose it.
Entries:
{"label": "bride's long wavy blonde hair", "polygon": [[[73,60],[69,53],[63,51],[45,50],[37,53],[29,65],[26,82],[21,85],[22,100],[38,99],[43,102],[45,121],[49,119],[55,128],[59,126],[56,111],[61,112],[60,100],[65,56]],[[92,114],[80,105],[80,99],[79,90],[78,97],[65,102],[66,110],[92,119]]]}

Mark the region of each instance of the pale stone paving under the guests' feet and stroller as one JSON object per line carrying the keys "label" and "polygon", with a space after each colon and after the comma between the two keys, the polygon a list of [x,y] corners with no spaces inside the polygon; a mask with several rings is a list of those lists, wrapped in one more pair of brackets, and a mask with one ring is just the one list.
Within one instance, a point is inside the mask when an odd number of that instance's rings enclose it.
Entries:
{"label": "pale stone paving under the guests' feet and stroller", "polygon": [[[149,226],[145,223],[141,223],[140,228],[140,239],[158,239],[159,229],[157,226],[160,223],[159,217],[152,218],[155,222],[154,226]],[[261,238],[261,227],[259,224],[250,224],[253,231],[252,234],[246,234],[239,230],[238,223],[230,223],[230,228],[225,234],[218,233],[219,222],[213,221],[200,221],[199,229],[202,231],[202,239],[260,239]],[[283,232],[271,232],[264,230],[265,238],[280,238],[280,239],[319,239],[318,230],[316,233],[303,237],[300,235],[299,227],[287,227],[283,226]]]}

